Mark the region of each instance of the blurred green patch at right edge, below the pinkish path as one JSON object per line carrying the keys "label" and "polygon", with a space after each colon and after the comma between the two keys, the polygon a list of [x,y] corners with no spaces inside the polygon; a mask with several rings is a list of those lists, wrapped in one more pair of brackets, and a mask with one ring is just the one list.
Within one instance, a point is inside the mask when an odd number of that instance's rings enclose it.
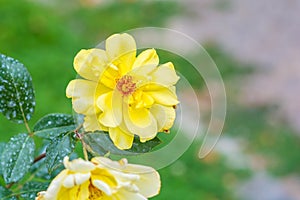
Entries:
{"label": "blurred green patch at right edge, below the pinkish path", "polygon": [[300,175],[300,138],[282,119],[271,117],[274,112],[272,106],[252,108],[231,102],[225,131],[243,138],[245,153],[262,156],[273,175]]}

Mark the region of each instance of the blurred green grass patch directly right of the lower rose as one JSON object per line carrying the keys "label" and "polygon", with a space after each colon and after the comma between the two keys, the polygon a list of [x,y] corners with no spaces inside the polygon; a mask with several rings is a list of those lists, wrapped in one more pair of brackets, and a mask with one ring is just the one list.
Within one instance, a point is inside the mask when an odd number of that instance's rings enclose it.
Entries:
{"label": "blurred green grass patch directly right of the lower rose", "polygon": [[195,142],[179,160],[160,170],[162,190],[153,199],[236,199],[232,187],[247,178],[249,171],[231,169],[215,153],[200,160],[200,145]]}

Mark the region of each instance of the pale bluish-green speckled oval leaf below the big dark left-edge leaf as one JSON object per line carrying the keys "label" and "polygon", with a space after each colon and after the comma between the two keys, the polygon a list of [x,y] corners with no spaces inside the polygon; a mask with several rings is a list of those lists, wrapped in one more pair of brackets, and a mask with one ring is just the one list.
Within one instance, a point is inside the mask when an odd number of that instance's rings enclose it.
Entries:
{"label": "pale bluish-green speckled oval leaf below the big dark left-edge leaf", "polygon": [[25,133],[10,139],[2,153],[1,168],[7,184],[17,182],[28,172],[34,159],[35,144]]}

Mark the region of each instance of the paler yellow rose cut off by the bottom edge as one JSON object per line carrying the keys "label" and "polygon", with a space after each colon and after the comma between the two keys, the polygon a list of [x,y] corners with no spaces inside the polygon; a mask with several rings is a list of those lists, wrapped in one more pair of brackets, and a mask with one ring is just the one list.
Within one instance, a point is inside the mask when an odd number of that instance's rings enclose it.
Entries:
{"label": "paler yellow rose cut off by the bottom edge", "polygon": [[65,170],[36,200],[146,200],[159,193],[160,177],[151,167],[104,157],[64,159]]}

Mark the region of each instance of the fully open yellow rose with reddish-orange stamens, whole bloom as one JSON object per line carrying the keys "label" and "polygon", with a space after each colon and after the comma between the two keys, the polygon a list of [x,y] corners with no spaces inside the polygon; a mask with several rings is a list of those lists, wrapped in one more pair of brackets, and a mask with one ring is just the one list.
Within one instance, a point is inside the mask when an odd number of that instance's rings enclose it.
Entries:
{"label": "fully open yellow rose with reddish-orange stamens, whole bloom", "polygon": [[74,68],[84,79],[72,80],[66,94],[85,115],[86,131],[108,131],[119,149],[129,149],[134,135],[146,142],[172,127],[179,77],[171,62],[159,65],[154,49],[136,56],[133,37],[115,34],[106,40],[106,51],[81,50]]}

